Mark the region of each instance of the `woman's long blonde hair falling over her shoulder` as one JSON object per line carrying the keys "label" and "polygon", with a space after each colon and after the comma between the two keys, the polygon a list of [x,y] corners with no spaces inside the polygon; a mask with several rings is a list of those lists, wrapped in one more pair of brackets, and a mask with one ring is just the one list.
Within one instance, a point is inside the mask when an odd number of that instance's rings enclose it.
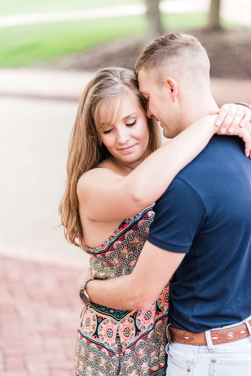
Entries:
{"label": "woman's long blonde hair falling over her shoulder", "polygon": [[[85,249],[79,216],[77,184],[86,171],[108,157],[108,150],[102,144],[101,135],[108,127],[114,102],[132,90],[138,105],[146,114],[146,100],[138,90],[138,81],[132,71],[125,68],[103,68],[96,72],[87,84],[79,100],[75,123],[70,135],[67,161],[67,180],[64,195],[59,205],[61,225],[69,243]],[[100,122],[100,107],[106,101],[106,122]],[[120,101],[122,102],[122,100]],[[154,118],[146,115],[149,127],[149,152],[160,147],[160,129]],[[78,243],[76,242],[78,239]]]}

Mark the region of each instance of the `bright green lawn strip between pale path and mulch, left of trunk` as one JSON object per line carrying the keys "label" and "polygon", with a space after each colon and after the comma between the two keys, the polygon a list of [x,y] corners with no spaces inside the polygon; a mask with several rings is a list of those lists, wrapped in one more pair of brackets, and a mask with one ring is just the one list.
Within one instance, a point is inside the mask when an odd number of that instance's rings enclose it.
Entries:
{"label": "bright green lawn strip between pale path and mulch, left of trunk", "polygon": [[145,17],[138,16],[0,29],[0,67],[31,65],[39,60],[81,52],[145,29]]}

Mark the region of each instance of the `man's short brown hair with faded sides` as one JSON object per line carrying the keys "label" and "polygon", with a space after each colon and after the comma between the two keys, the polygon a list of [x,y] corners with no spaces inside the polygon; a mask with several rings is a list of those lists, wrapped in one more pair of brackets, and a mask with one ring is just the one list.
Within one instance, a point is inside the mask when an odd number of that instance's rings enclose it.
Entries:
{"label": "man's short brown hair with faded sides", "polygon": [[163,74],[183,78],[189,83],[205,78],[209,82],[210,63],[201,42],[193,35],[185,33],[168,33],[149,44],[139,56],[134,73],[154,71],[158,81],[164,79]]}

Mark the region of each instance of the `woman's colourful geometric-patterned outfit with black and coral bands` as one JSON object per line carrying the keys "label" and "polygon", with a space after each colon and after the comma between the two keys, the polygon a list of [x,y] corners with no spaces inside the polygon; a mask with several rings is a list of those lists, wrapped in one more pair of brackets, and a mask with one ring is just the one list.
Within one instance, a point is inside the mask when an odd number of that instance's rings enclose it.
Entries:
{"label": "woman's colourful geometric-patterned outfit with black and coral bands", "polygon": [[[102,246],[86,246],[94,279],[131,274],[154,219],[153,206],[125,219]],[[85,306],[76,338],[76,375],[164,376],[170,288],[169,282],[145,311]]]}

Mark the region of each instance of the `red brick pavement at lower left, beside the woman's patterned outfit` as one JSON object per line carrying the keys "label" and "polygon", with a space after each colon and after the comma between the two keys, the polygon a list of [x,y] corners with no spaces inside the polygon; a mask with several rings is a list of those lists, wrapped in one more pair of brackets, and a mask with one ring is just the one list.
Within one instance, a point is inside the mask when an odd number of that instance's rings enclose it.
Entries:
{"label": "red brick pavement at lower left, beside the woman's patterned outfit", "polygon": [[74,376],[80,269],[0,257],[0,375]]}

